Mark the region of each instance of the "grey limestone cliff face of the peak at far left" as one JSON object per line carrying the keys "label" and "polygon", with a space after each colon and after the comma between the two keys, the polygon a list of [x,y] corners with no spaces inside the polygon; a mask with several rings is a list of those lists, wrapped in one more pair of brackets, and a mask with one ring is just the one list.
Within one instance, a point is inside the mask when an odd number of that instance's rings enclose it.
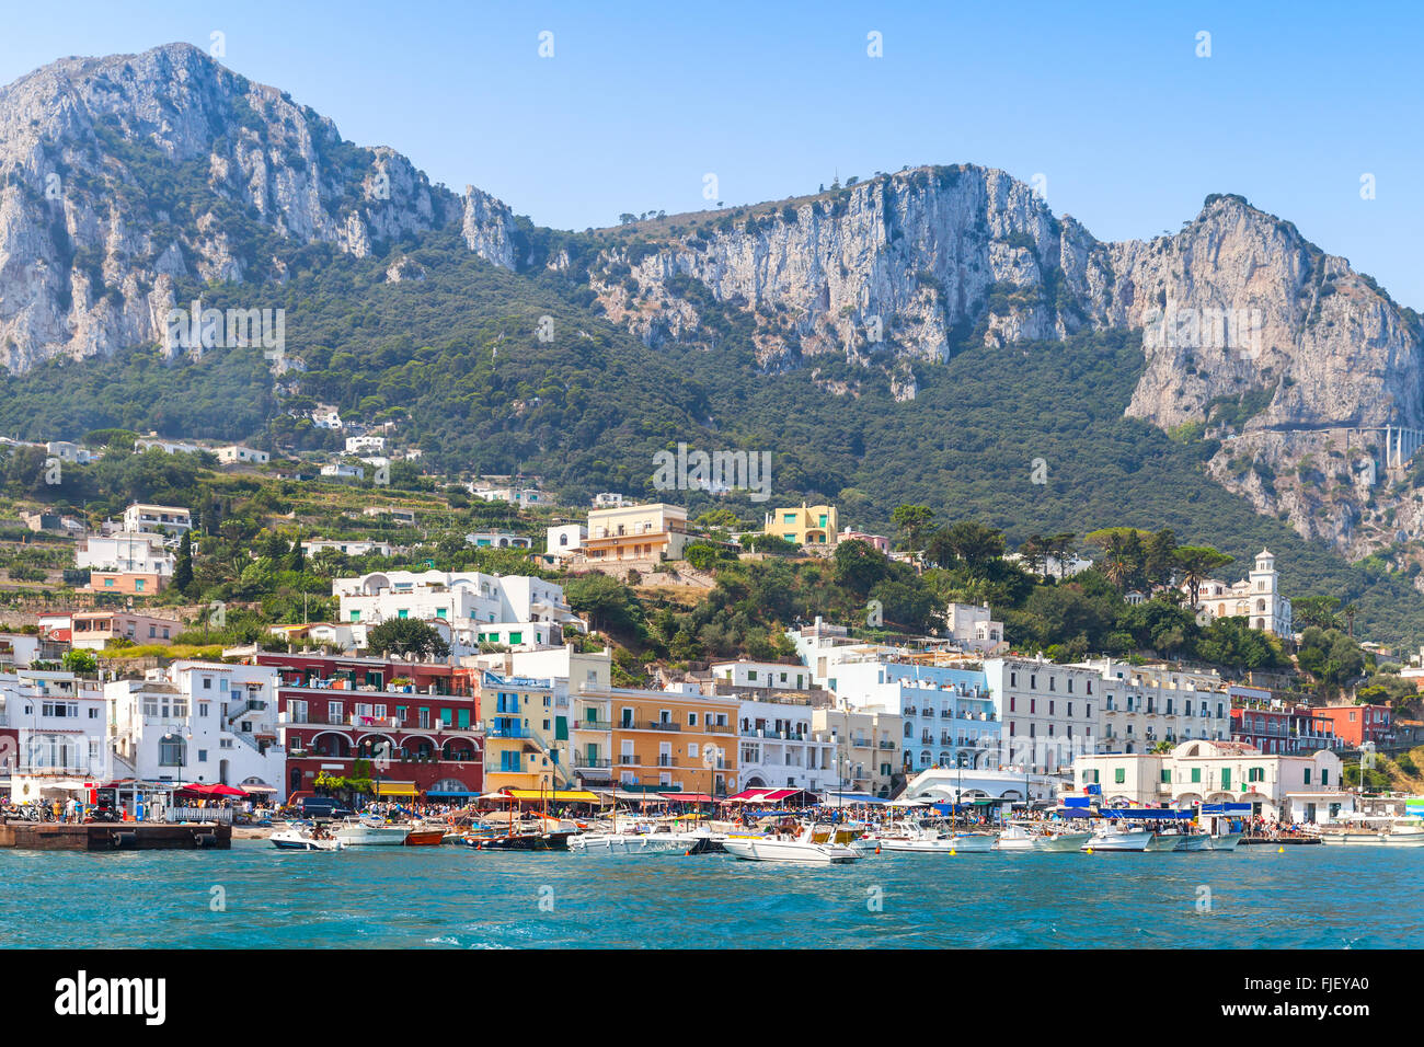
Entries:
{"label": "grey limestone cliff face of the peak at far left", "polygon": [[0,88],[0,363],[154,343],[182,278],[282,279],[285,248],[461,222],[513,265],[513,217],[362,150],[188,44],[64,58]]}

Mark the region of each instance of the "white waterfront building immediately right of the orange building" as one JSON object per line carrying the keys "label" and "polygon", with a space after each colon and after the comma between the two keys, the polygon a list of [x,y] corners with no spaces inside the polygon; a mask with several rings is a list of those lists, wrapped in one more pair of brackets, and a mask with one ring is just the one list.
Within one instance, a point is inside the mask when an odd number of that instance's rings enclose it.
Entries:
{"label": "white waterfront building immediately right of the orange building", "polygon": [[837,786],[836,741],[812,729],[807,702],[742,698],[736,709],[738,789]]}

